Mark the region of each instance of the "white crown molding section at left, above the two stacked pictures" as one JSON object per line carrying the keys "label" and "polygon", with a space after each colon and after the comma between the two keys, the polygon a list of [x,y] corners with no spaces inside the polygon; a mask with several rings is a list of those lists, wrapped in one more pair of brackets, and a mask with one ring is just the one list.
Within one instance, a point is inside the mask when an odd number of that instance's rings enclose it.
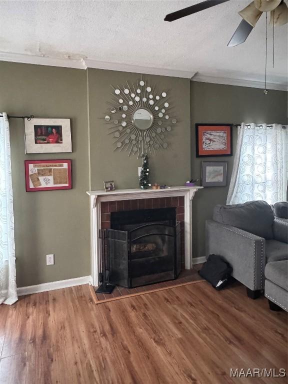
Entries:
{"label": "white crown molding section at left, above the two stacked pictures", "polygon": [[86,69],[83,59],[58,58],[36,54],[0,52],[0,61],[22,62],[26,64],[63,66],[67,68]]}

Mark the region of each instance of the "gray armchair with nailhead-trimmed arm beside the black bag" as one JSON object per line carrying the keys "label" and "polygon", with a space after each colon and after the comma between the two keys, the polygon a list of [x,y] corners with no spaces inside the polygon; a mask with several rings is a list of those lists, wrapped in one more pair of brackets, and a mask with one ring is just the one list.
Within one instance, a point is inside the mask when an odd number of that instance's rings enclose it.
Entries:
{"label": "gray armchair with nailhead-trimmed arm beside the black bag", "polygon": [[206,257],[223,256],[251,298],[264,288],[266,262],[288,258],[287,243],[288,222],[274,217],[265,201],[216,205],[206,221]]}

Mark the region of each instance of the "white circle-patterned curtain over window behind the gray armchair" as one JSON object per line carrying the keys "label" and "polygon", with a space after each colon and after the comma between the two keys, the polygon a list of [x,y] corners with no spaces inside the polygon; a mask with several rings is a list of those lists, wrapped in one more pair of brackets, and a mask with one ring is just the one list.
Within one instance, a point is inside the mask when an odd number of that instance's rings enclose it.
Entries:
{"label": "white circle-patterned curtain over window behind the gray armchair", "polygon": [[288,127],[242,123],[238,127],[227,204],[286,201]]}

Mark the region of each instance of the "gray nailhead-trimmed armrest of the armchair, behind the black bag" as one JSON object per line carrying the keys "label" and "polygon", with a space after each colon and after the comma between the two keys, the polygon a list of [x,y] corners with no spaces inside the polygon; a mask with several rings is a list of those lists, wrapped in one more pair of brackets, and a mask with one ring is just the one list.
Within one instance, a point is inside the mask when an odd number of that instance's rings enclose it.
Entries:
{"label": "gray nailhead-trimmed armrest of the armchair, behind the black bag", "polygon": [[232,276],[252,290],[264,287],[265,239],[214,220],[206,220],[206,257],[215,253],[233,268]]}

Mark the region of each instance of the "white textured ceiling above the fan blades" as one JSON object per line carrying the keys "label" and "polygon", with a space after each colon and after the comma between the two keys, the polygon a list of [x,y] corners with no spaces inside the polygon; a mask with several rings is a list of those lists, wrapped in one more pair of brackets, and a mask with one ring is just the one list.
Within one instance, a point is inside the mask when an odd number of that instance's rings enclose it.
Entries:
{"label": "white textured ceiling above the fan blades", "polygon": [[[250,1],[231,0],[182,19],[166,13],[200,1],[1,1],[0,51],[44,54],[200,75],[264,80],[265,14],[245,43],[226,44]],[[268,27],[267,81],[287,82],[287,24]]]}

